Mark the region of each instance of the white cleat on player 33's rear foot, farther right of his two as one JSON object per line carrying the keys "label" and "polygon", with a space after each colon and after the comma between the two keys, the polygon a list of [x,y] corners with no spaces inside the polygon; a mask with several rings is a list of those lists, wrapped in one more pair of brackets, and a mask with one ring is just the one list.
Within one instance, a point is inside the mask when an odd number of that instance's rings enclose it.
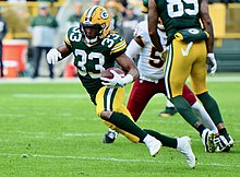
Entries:
{"label": "white cleat on player 33's rear foot, farther right of his two", "polygon": [[185,156],[190,168],[195,167],[195,155],[192,152],[191,139],[189,137],[181,137],[177,139],[177,150]]}

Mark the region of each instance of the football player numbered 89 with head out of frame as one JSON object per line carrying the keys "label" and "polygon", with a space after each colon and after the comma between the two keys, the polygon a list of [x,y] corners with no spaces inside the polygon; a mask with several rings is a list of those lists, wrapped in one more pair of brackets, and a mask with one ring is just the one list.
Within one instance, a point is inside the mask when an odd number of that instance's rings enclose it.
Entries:
{"label": "football player numbered 89 with head out of frame", "polygon": [[190,76],[195,95],[218,128],[219,151],[228,151],[233,145],[233,140],[225,128],[218,104],[209,95],[206,84],[206,62],[209,63],[211,74],[217,70],[217,62],[213,52],[213,24],[207,3],[207,0],[192,0],[191,2],[149,0],[147,3],[148,33],[156,49],[163,51],[164,47],[157,33],[158,17],[160,17],[169,46],[165,66],[165,84],[168,98],[187,121],[192,119],[196,121],[197,117],[182,96],[182,88]]}

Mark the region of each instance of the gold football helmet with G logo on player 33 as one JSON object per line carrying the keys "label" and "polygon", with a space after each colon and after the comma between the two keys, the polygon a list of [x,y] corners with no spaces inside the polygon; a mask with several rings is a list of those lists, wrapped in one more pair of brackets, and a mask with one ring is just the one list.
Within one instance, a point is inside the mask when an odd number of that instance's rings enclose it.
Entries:
{"label": "gold football helmet with G logo on player 33", "polygon": [[104,38],[110,30],[110,15],[107,10],[100,5],[92,5],[83,13],[80,22],[80,28],[85,34],[84,27],[99,28],[96,38],[87,40],[88,43],[96,43],[97,38]]}

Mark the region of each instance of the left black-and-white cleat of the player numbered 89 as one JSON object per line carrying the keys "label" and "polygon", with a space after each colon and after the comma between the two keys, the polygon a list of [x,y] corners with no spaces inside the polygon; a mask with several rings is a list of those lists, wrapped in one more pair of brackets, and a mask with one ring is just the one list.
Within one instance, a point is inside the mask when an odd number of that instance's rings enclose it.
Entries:
{"label": "left black-and-white cleat of the player numbered 89", "polygon": [[205,152],[215,152],[217,144],[215,141],[215,133],[209,129],[204,129],[202,133],[202,142],[205,148]]}

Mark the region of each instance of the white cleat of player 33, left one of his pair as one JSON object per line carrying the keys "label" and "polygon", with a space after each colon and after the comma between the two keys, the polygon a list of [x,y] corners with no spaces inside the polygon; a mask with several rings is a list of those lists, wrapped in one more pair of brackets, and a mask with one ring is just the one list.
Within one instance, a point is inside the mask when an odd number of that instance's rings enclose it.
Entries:
{"label": "white cleat of player 33, left one of his pair", "polygon": [[161,142],[149,134],[147,134],[143,141],[148,148],[151,155],[155,157],[155,155],[160,151],[163,145]]}

